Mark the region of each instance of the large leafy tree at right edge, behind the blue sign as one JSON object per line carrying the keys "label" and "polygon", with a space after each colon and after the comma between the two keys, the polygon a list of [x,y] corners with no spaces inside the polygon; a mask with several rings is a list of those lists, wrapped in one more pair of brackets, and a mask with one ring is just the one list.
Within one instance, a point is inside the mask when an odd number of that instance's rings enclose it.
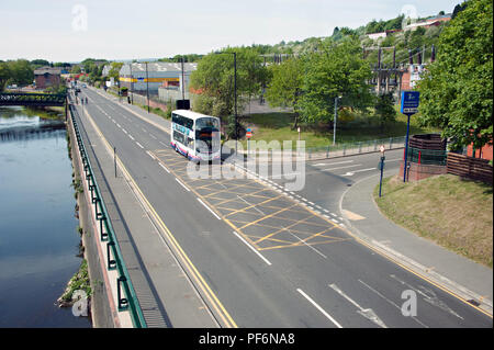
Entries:
{"label": "large leafy tree at right edge, behind the blue sign", "polygon": [[437,60],[419,82],[420,122],[442,128],[453,148],[493,137],[493,4],[468,0],[439,36]]}

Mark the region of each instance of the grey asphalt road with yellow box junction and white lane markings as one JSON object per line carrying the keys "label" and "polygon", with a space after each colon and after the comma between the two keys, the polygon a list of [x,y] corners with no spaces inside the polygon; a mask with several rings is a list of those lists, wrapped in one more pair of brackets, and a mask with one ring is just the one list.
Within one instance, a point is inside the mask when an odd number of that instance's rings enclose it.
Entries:
{"label": "grey asphalt road with yellow box junction and white lane markings", "polygon": [[[212,313],[222,326],[492,327],[491,317],[362,246],[332,216],[347,184],[375,171],[363,170],[377,167],[375,154],[307,163],[310,185],[293,192],[300,197],[245,176],[191,179],[168,133],[99,92],[82,94],[90,118],[218,301]],[[390,167],[401,153],[386,156]]]}

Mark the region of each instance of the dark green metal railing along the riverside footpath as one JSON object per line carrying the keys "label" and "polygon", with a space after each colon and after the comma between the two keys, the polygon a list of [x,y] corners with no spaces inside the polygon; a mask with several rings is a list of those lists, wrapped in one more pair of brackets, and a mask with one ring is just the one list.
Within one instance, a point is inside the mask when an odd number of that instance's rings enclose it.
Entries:
{"label": "dark green metal railing along the riverside footpath", "polygon": [[[143,312],[137,301],[137,296],[132,285],[128,271],[123,261],[122,252],[116,240],[115,233],[113,230],[112,223],[104,205],[103,197],[101,195],[100,188],[94,178],[94,172],[89,161],[89,157],[86,151],[86,147],[82,143],[80,136],[79,126],[77,125],[74,114],[77,111],[70,105],[70,120],[74,125],[74,131],[76,133],[77,144],[79,146],[80,157],[82,159],[82,166],[85,170],[86,180],[88,181],[88,188],[91,191],[91,203],[94,204],[94,215],[97,221],[100,223],[100,240],[106,241],[106,269],[116,270],[119,272],[119,278],[116,279],[117,287],[117,305],[119,312],[128,311],[131,314],[132,323],[136,328],[146,328],[146,321],[144,319]],[[111,258],[113,257],[113,258]],[[122,293],[122,289],[124,293]]]}

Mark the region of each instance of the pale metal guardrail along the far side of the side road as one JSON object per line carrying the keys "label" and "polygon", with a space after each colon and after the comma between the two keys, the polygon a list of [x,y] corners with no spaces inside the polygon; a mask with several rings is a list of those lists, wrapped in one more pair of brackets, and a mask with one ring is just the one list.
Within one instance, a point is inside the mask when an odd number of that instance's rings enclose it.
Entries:
{"label": "pale metal guardrail along the far side of the side road", "polygon": [[310,147],[305,149],[305,153],[307,154],[307,159],[321,159],[379,151],[379,146],[381,145],[384,145],[386,150],[403,148],[405,147],[405,136],[338,144],[335,146]]}

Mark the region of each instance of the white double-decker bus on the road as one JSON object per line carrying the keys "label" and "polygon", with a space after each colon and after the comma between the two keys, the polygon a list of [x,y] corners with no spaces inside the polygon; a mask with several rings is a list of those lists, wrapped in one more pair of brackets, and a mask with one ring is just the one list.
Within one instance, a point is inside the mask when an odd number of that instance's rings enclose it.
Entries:
{"label": "white double-decker bus on the road", "polygon": [[220,118],[188,110],[172,111],[170,144],[189,160],[220,159]]}

